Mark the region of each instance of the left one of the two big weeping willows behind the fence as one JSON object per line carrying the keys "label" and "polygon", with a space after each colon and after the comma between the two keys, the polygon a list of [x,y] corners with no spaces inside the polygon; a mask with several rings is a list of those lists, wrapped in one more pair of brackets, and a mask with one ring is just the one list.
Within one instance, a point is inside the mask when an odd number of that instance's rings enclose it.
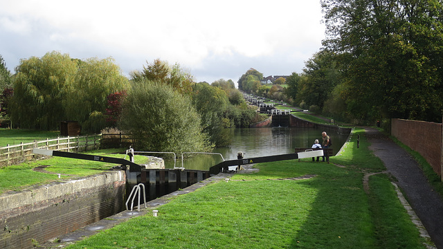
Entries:
{"label": "left one of the two big weeping willows behind the fence", "polygon": [[22,59],[16,71],[12,121],[22,128],[57,130],[67,118],[63,102],[75,81],[77,63],[67,54],[51,52]]}

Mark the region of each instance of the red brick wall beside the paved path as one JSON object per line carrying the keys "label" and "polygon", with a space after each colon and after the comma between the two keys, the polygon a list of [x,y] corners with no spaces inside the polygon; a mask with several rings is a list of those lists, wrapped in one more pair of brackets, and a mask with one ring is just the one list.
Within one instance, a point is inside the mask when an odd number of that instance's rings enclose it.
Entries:
{"label": "red brick wall beside the paved path", "polygon": [[441,176],[442,125],[435,122],[393,118],[391,134],[422,155],[433,167],[434,172]]}

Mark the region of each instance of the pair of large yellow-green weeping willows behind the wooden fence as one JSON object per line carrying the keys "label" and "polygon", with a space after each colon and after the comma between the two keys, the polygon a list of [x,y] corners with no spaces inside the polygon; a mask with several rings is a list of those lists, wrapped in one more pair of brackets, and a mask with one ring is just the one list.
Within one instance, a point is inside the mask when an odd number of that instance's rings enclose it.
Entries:
{"label": "pair of large yellow-green weeping willows behind the wooden fence", "polygon": [[71,59],[59,52],[21,60],[10,100],[12,122],[31,129],[59,129],[62,120],[82,131],[105,128],[107,96],[129,88],[113,59]]}

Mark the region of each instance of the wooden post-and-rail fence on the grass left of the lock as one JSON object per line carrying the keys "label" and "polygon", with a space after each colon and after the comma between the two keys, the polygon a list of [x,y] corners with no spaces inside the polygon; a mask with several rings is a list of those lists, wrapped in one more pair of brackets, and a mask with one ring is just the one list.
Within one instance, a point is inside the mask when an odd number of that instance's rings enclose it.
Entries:
{"label": "wooden post-and-rail fence on the grass left of the lock", "polygon": [[98,149],[102,134],[93,136],[68,136],[0,147],[0,167],[23,163],[38,158],[33,154],[34,148],[52,149],[56,151],[79,152]]}

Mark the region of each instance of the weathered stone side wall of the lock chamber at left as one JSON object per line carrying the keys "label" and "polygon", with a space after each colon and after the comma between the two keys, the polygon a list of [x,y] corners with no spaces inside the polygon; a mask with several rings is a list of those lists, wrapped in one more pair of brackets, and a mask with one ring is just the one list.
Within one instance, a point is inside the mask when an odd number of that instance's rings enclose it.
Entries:
{"label": "weathered stone side wall of the lock chamber at left", "polygon": [[33,187],[0,196],[0,248],[33,248],[121,212],[125,172]]}

